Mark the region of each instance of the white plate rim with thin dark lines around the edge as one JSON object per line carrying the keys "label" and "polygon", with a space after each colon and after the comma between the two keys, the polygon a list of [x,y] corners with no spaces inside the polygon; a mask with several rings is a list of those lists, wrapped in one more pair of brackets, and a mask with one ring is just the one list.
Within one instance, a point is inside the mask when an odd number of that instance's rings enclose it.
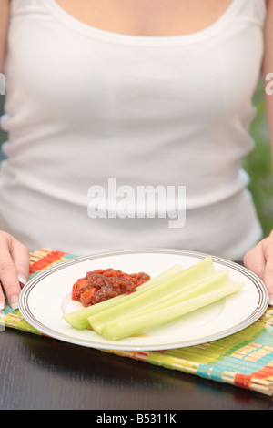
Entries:
{"label": "white plate rim with thin dark lines around the edge", "polygon": [[[41,321],[38,321],[35,316],[32,314],[30,309],[27,306],[27,298],[30,294],[30,292],[35,288],[35,285],[43,280],[45,276],[48,276],[52,273],[54,273],[56,270],[62,270],[66,269],[66,266],[74,265],[76,263],[80,263],[87,260],[96,260],[100,259],[102,257],[111,257],[111,256],[118,256],[118,255],[127,255],[127,254],[143,254],[143,253],[157,253],[157,254],[174,254],[174,255],[180,255],[180,256],[186,256],[186,257],[193,257],[195,259],[202,260],[206,257],[211,257],[211,260],[215,263],[222,264],[223,266],[237,270],[238,272],[244,274],[245,276],[250,279],[254,285],[256,286],[258,290],[258,304],[255,308],[255,310],[248,315],[248,317],[244,321],[240,321],[235,326],[228,328],[224,331],[219,331],[217,333],[208,335],[204,338],[195,339],[193,341],[187,340],[177,346],[176,344],[168,344],[166,347],[162,348],[162,345],[118,345],[118,341],[109,343],[97,343],[96,341],[87,341],[84,339],[76,339],[74,337],[68,336],[65,333],[58,332],[55,330],[52,330],[50,327],[46,327],[44,323]],[[21,290],[21,293],[19,295],[19,311],[21,312],[21,315],[27,321],[30,325],[32,325],[36,330],[40,331],[46,336],[55,338],[60,341],[65,341],[68,343],[76,344],[78,346],[84,346],[87,348],[94,348],[94,349],[101,349],[101,350],[108,350],[108,351],[138,351],[138,352],[152,352],[152,351],[164,351],[164,350],[170,350],[170,349],[178,349],[178,348],[184,348],[188,346],[194,346],[202,343],[206,343],[209,341],[216,341],[219,339],[223,339],[227,336],[230,336],[232,334],[237,333],[238,331],[242,331],[246,329],[248,326],[253,324],[255,321],[257,321],[263,313],[267,310],[269,303],[269,293],[268,289],[261,280],[258,275],[256,275],[251,270],[248,270],[245,266],[238,264],[236,261],[227,260],[222,257],[211,255],[205,252],[199,252],[199,251],[193,251],[193,250],[179,250],[179,249],[163,249],[163,248],[141,248],[141,249],[128,249],[128,250],[111,250],[106,252],[98,252],[86,256],[76,256],[75,259],[62,261],[61,263],[57,264],[56,266],[49,267],[45,270],[42,270],[41,272],[35,274],[35,276],[28,280],[25,284],[25,287]]]}

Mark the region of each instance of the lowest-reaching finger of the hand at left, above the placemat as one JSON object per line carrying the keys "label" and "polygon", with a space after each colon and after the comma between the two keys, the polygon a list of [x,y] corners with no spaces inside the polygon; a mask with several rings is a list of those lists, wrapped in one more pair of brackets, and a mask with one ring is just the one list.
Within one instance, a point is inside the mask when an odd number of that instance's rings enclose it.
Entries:
{"label": "lowest-reaching finger of the hand at left, above the placemat", "polygon": [[[5,290],[7,301],[13,309],[17,309],[21,288],[17,278],[14,261],[6,247],[1,250],[0,255],[0,280]],[[1,303],[5,306],[5,300],[1,301]]]}

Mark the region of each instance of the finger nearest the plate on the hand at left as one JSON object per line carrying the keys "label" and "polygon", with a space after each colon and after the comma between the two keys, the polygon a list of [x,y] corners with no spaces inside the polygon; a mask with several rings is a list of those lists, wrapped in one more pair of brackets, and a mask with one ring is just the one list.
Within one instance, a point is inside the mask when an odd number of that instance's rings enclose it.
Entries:
{"label": "finger nearest the plate on the hand at left", "polygon": [[17,278],[22,289],[29,276],[29,251],[27,250],[25,245],[14,239],[10,248],[10,253],[14,261]]}

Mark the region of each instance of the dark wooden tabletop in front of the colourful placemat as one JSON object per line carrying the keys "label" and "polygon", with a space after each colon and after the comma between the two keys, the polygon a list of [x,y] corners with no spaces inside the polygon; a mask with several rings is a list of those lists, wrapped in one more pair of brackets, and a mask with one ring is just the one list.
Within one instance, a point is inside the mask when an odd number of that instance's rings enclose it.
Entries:
{"label": "dark wooden tabletop in front of the colourful placemat", "polygon": [[24,331],[1,331],[0,350],[1,410],[273,409],[256,392]]}

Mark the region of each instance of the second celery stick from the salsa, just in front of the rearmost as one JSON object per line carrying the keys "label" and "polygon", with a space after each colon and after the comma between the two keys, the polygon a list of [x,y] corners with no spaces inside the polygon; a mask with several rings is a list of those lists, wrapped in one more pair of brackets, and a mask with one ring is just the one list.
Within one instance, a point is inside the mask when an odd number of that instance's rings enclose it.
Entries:
{"label": "second celery stick from the salsa, just in front of the rearmost", "polygon": [[182,290],[192,287],[192,285],[200,280],[211,277],[216,272],[214,270],[211,258],[206,258],[199,261],[194,266],[183,270],[177,275],[172,276],[169,280],[165,280],[159,283],[157,287],[146,290],[145,292],[137,292],[126,296],[124,301],[121,301],[118,305],[107,309],[106,311],[100,311],[93,316],[88,317],[88,321],[98,333],[101,332],[101,328],[106,324],[107,321],[112,321],[114,317],[121,317],[132,311],[141,310],[148,304],[155,304],[158,299],[168,299],[170,293],[177,290]]}

